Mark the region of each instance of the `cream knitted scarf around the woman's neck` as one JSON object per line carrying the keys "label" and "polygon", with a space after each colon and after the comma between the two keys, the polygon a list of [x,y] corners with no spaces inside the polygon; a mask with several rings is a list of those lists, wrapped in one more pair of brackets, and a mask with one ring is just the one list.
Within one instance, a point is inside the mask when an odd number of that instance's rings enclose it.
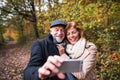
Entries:
{"label": "cream knitted scarf around the woman's neck", "polygon": [[86,39],[81,38],[77,43],[74,45],[72,44],[67,44],[66,46],[66,51],[69,54],[71,58],[78,58],[80,57],[85,49],[85,44],[86,44]]}

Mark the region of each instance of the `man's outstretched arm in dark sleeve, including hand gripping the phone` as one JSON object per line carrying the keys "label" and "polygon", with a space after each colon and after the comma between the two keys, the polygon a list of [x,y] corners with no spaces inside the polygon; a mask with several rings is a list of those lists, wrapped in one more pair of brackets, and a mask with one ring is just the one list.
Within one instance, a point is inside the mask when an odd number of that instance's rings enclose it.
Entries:
{"label": "man's outstretched arm in dark sleeve, including hand gripping the phone", "polygon": [[54,75],[57,75],[60,79],[65,78],[65,75],[58,69],[63,62],[60,56],[49,56],[46,62],[45,60],[42,45],[35,42],[32,45],[29,64],[24,70],[24,80],[46,79]]}

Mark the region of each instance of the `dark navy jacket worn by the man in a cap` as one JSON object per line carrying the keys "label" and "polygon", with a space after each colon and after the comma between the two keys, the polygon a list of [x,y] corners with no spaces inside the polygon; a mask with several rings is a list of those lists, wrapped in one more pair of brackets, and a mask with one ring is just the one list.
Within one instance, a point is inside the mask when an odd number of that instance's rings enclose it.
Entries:
{"label": "dark navy jacket worn by the man in a cap", "polygon": [[[53,43],[52,35],[46,39],[35,41],[31,47],[30,61],[24,70],[24,80],[39,80],[38,68],[41,67],[50,55],[59,55],[56,45]],[[57,76],[50,80],[59,80]]]}

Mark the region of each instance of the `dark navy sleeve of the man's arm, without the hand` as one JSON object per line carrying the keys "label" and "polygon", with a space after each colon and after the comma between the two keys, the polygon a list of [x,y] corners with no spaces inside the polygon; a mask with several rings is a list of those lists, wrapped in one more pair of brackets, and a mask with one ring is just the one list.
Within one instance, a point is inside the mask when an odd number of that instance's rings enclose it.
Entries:
{"label": "dark navy sleeve of the man's arm, without the hand", "polygon": [[38,68],[44,64],[42,47],[36,41],[31,47],[31,55],[28,66],[24,70],[24,80],[38,80]]}

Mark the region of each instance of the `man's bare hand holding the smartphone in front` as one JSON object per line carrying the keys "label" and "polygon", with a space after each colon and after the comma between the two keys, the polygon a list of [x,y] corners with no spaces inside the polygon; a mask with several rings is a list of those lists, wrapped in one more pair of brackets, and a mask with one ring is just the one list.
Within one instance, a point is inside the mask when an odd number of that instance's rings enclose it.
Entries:
{"label": "man's bare hand holding the smartphone in front", "polygon": [[39,78],[46,79],[47,77],[57,75],[60,79],[64,79],[65,75],[58,69],[62,63],[63,60],[60,56],[49,56],[46,63],[38,69]]}

